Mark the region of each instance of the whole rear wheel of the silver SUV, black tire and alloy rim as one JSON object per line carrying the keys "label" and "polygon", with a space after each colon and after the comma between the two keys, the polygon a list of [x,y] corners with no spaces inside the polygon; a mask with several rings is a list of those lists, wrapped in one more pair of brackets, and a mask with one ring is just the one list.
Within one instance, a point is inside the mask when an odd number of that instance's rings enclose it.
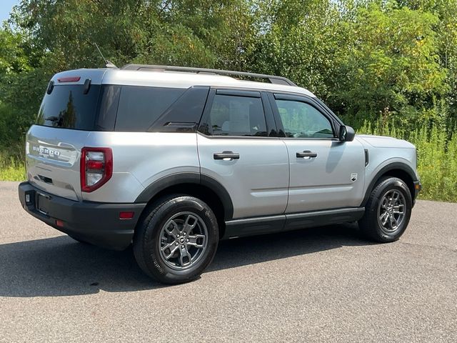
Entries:
{"label": "whole rear wheel of the silver SUV, black tire and alloy rim", "polygon": [[[186,221],[184,218],[187,218]],[[196,245],[191,246],[192,242],[189,242],[189,239],[187,239],[189,243],[181,242],[184,232],[187,231],[184,229],[184,224],[194,219],[195,227],[190,230],[187,237],[190,239],[199,236],[199,244],[204,245],[201,248]],[[171,228],[174,229],[170,230]],[[176,238],[175,229],[181,237],[178,234],[179,238]],[[198,233],[195,234],[194,230]],[[206,238],[202,239],[201,237],[205,235]],[[166,284],[181,284],[196,279],[204,272],[216,254],[218,243],[219,227],[211,208],[195,197],[174,194],[159,199],[149,207],[149,212],[146,212],[136,227],[134,254],[139,267],[150,277]],[[171,249],[163,250],[170,244],[176,244],[176,247],[173,245]],[[196,238],[195,244],[197,244]],[[182,253],[181,247],[183,247]],[[195,254],[199,252],[198,257],[195,255],[195,260],[194,257],[189,259],[191,251]],[[165,257],[167,254],[169,256],[177,254],[177,257],[171,257],[168,260]],[[176,259],[178,261],[175,261]],[[190,264],[182,267],[186,263]]]}

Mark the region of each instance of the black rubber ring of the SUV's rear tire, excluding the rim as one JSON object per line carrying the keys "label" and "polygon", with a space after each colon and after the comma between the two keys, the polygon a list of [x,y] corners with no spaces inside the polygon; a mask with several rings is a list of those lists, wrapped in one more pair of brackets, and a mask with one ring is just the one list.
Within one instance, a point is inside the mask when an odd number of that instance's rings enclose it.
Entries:
{"label": "black rubber ring of the SUV's rear tire, excluding the rim", "polygon": [[[162,260],[158,243],[161,229],[174,214],[179,212],[198,214],[208,230],[208,243],[204,254],[194,266],[185,270],[176,270],[167,266]],[[176,197],[162,205],[146,227],[145,237],[142,241],[142,244],[144,244],[143,251],[147,257],[145,260],[146,267],[154,277],[162,282],[180,283],[191,281],[198,277],[211,263],[216,253],[218,242],[219,227],[216,217],[209,206],[193,197]]]}

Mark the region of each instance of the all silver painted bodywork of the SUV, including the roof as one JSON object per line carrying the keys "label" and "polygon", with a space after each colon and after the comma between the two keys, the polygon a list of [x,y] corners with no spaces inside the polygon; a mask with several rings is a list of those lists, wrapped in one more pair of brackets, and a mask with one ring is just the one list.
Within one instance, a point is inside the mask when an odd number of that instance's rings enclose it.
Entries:
{"label": "all silver painted bodywork of the SUV, including the roof", "polygon": [[[118,69],[79,69],[56,74],[91,78],[93,84],[144,86],[228,86],[288,91],[313,96],[300,87],[239,81],[228,76]],[[81,148],[113,150],[113,176],[94,192],[81,192]],[[364,149],[369,164],[365,166]],[[297,151],[318,156],[299,159]],[[233,151],[240,159],[215,160]],[[416,149],[407,141],[360,135],[351,142],[331,139],[211,138],[196,133],[101,132],[31,126],[26,136],[26,171],[35,187],[75,201],[132,203],[162,177],[201,173],[216,179],[233,202],[233,219],[360,207],[368,184],[388,164],[416,171]],[[351,181],[351,174],[357,174]],[[417,177],[417,174],[416,174]]]}

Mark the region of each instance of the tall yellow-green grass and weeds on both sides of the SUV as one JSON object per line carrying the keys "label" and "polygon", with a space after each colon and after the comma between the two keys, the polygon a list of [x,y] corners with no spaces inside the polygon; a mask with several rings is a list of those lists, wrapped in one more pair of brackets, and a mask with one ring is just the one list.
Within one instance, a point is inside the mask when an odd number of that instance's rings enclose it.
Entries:
{"label": "tall yellow-green grass and weeds on both sides of the SUV", "polygon": [[[398,129],[393,124],[378,120],[365,121],[358,133],[378,134],[406,139],[418,149],[418,174],[421,177],[420,199],[457,202],[457,134],[447,134],[437,124],[423,124],[418,129]],[[26,179],[23,159],[0,152],[0,180]]]}

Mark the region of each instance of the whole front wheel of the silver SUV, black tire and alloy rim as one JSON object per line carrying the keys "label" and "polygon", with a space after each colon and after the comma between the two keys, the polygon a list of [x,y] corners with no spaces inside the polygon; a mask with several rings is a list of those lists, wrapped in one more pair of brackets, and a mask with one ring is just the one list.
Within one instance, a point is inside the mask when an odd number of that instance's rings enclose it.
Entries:
{"label": "whole front wheel of the silver SUV, black tire and alloy rim", "polygon": [[[398,194],[398,202],[393,200],[395,194]],[[403,203],[403,217],[398,214],[401,211],[398,204],[401,203]],[[411,192],[403,180],[397,177],[384,177],[371,192],[366,203],[365,214],[358,222],[358,226],[361,232],[373,241],[395,242],[408,227],[412,204]],[[384,219],[386,223],[383,225]]]}

